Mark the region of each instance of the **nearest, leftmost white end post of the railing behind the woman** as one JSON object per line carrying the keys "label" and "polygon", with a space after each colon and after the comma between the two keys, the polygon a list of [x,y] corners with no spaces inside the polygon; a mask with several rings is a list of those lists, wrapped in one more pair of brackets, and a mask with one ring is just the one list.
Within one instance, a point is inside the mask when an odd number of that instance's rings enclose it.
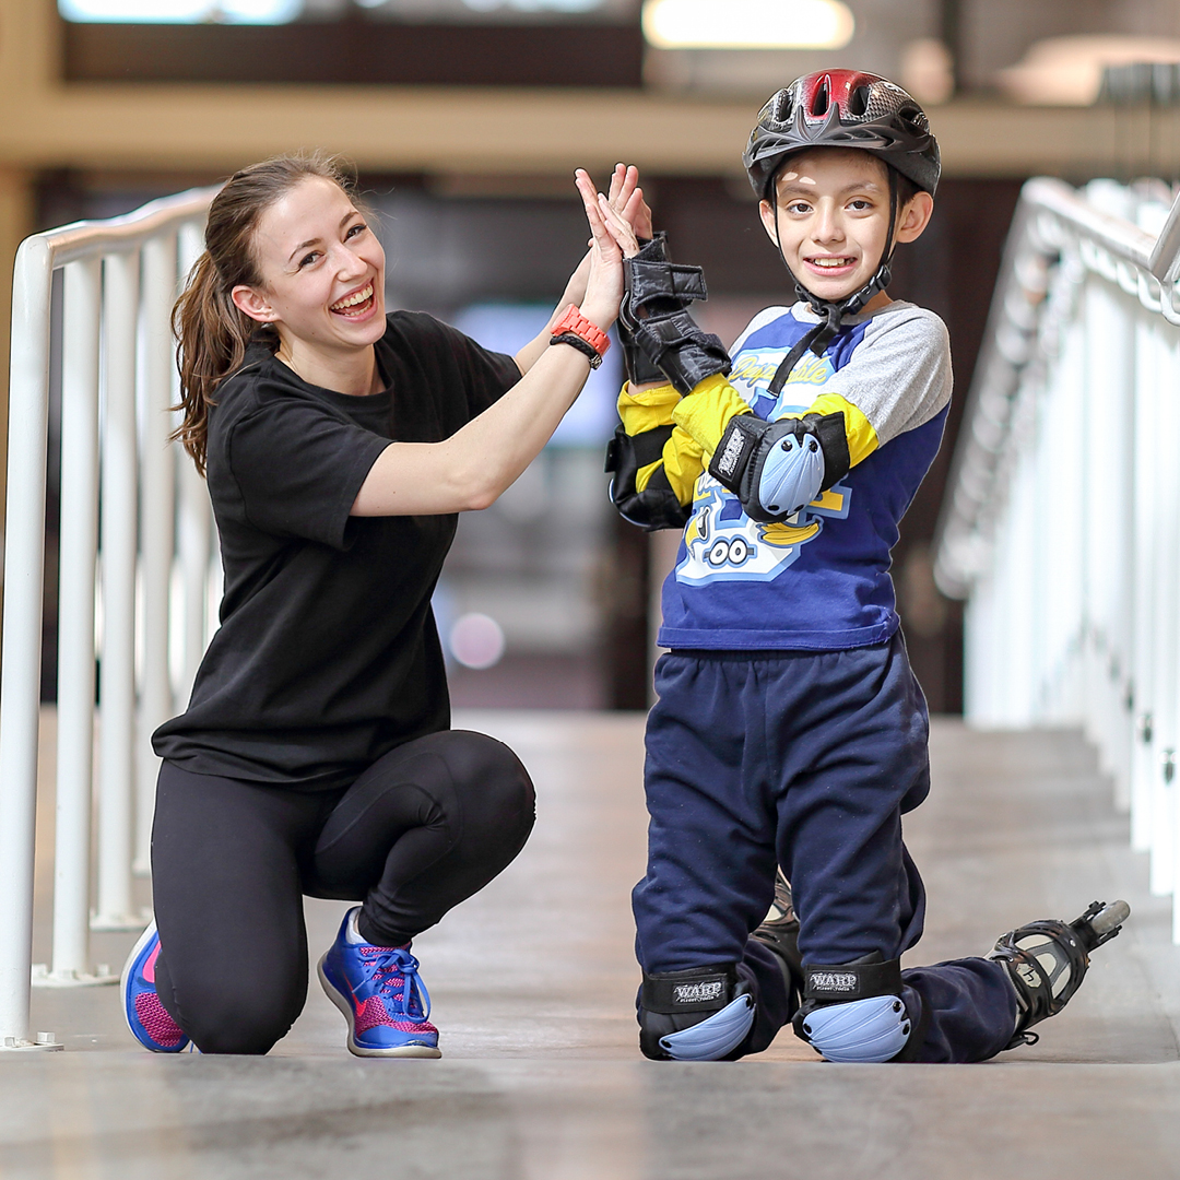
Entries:
{"label": "nearest, leftmost white end post of the railing behind the woman", "polygon": [[28,1036],[52,281],[47,244],[27,240],[17,254],[8,384],[0,662],[0,1050],[60,1048],[42,1036],[38,1041]]}

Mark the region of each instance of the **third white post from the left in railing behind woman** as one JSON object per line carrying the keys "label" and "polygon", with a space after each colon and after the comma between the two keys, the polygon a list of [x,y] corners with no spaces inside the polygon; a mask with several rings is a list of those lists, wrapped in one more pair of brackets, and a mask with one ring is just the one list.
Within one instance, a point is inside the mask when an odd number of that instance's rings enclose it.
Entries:
{"label": "third white post from the left in railing behind woman", "polygon": [[136,760],[136,327],[139,251],[104,258],[106,406],[103,431],[103,648],[99,663],[96,930],[143,925],[131,891]]}

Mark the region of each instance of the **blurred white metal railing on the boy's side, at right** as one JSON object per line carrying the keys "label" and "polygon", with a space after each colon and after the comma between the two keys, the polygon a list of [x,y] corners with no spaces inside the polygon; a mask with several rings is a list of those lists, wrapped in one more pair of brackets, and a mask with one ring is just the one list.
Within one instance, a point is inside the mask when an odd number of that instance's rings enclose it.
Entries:
{"label": "blurred white metal railing on the boy's side, at right", "polygon": [[1025,184],[936,560],[968,599],[968,720],[1082,726],[1158,894],[1180,886],[1178,277],[1162,183]]}

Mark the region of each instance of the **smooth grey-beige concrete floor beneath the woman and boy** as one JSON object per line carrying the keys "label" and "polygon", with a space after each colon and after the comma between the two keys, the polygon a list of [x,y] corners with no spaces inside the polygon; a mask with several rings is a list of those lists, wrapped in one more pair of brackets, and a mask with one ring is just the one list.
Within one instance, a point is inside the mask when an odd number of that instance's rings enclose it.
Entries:
{"label": "smooth grey-beige concrete floor beneath the woman and boy", "polygon": [[[415,943],[441,1061],[359,1061],[313,984],[267,1058],[153,1056],[116,989],[34,992],[65,1053],[0,1054],[0,1176],[745,1180],[1180,1176],[1171,903],[1073,734],[935,725],[906,837],[930,891],[914,963],[982,952],[1094,898],[1134,916],[1041,1044],[982,1066],[830,1066],[791,1036],[740,1063],[640,1057],[628,892],[643,865],[642,719],[466,714],[537,782],[519,860]],[[44,880],[44,878],[42,878]],[[308,903],[319,955],[343,906]],[[38,945],[47,931],[38,929]],[[122,962],[131,935],[96,936]]]}

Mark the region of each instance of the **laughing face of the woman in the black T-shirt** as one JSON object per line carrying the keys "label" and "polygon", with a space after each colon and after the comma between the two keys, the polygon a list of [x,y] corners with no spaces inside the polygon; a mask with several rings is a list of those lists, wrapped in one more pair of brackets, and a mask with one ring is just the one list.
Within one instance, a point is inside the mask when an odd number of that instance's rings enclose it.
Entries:
{"label": "laughing face of the woman in the black T-shirt", "polygon": [[234,302],[288,348],[352,352],[385,334],[385,250],[340,185],[301,181],[258,218],[254,249],[262,283]]}

